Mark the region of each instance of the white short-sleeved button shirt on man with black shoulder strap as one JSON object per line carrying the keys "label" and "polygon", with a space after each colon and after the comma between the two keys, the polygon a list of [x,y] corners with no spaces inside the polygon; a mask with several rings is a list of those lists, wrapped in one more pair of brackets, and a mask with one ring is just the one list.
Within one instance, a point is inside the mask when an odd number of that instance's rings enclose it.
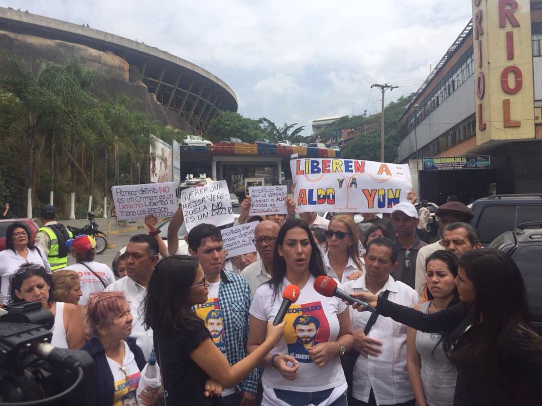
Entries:
{"label": "white short-sleeved button shirt on man with black shoulder strap", "polygon": [[[344,284],[344,290],[349,293],[369,292],[365,284],[366,275],[349,280]],[[388,300],[404,306],[414,306],[420,303],[420,296],[410,286],[395,281],[390,276],[377,295],[386,290],[390,291]],[[354,330],[363,330],[370,312],[351,311]],[[369,402],[371,388],[377,404],[396,404],[414,399],[412,388],[406,371],[406,326],[393,321],[389,317],[378,316],[369,332],[369,337],[382,342],[382,353],[378,357],[360,355],[354,365],[353,397]]]}

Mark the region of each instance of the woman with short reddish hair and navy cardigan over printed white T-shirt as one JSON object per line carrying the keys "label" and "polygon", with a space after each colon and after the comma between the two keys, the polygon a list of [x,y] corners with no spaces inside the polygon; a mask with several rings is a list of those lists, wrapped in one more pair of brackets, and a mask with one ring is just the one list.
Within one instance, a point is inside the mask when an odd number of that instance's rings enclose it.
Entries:
{"label": "woman with short reddish hair and navy cardigan over printed white T-shirt", "polygon": [[94,361],[96,406],[124,406],[156,404],[162,388],[145,387],[135,397],[145,367],[143,351],[128,337],[132,332],[133,317],[130,304],[122,292],[100,292],[87,303],[87,322],[91,333],[82,348]]}

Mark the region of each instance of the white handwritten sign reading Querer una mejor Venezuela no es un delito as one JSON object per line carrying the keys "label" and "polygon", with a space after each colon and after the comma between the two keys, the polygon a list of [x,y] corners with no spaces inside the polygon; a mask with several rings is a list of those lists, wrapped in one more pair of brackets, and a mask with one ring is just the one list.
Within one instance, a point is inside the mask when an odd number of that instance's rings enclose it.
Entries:
{"label": "white handwritten sign reading Querer una mejor Venezuela no es un delito", "polygon": [[234,209],[225,180],[184,189],[180,192],[180,203],[188,231],[201,223],[218,227],[234,222]]}

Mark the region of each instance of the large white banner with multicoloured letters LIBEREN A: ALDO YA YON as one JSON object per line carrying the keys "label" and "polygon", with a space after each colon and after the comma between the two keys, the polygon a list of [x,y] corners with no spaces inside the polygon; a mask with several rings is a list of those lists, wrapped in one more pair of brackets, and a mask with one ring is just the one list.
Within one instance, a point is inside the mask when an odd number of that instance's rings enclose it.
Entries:
{"label": "large white banner with multicoloured letters LIBEREN A: ALDO YA YON", "polygon": [[298,213],[389,213],[412,190],[406,163],[308,158],[290,166]]}

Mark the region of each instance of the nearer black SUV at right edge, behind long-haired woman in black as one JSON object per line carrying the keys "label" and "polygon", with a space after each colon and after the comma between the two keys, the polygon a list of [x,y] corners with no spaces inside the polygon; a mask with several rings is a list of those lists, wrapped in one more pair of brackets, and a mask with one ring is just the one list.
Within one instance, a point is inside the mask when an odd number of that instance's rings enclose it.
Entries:
{"label": "nearer black SUV at right edge, behind long-haired woman in black", "polygon": [[499,235],[488,248],[505,252],[518,265],[533,313],[532,328],[542,335],[542,221],[520,224]]}

